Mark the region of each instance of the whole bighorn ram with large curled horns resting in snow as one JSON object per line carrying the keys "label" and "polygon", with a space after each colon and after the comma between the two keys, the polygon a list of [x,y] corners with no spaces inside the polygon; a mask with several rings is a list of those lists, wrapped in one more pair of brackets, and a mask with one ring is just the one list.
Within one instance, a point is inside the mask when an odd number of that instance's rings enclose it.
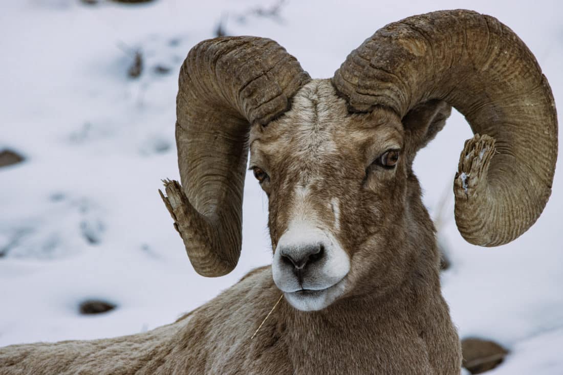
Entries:
{"label": "whole bighorn ram with large curled horns resting in snow", "polygon": [[166,181],[162,198],[196,271],[229,273],[250,150],[271,268],[150,332],[5,347],[0,373],[458,374],[412,171],[451,106],[475,133],[454,180],[459,231],[508,243],[551,194],[557,119],[537,61],[497,19],[454,10],[392,23],[332,79],[311,79],[270,39],[199,43],[180,72],[181,185]]}

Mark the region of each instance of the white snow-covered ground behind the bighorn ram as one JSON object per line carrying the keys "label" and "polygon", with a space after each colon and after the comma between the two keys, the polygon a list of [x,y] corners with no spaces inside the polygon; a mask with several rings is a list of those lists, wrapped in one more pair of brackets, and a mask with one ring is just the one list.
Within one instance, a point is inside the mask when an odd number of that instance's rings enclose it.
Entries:
{"label": "white snow-covered ground behind the bighorn ram", "polygon": [[[563,111],[563,6],[557,1],[157,0],[141,6],[78,0],[4,1],[0,12],[0,151],[24,163],[0,168],[0,346],[118,336],[172,322],[269,264],[267,198],[249,176],[243,251],[217,279],[191,268],[158,197],[178,178],[174,141],[177,73],[195,43],[224,21],[229,34],[270,37],[312,77],[331,77],[353,48],[406,16],[472,8],[528,44]],[[134,52],[144,70],[127,77]],[[168,73],[157,72],[169,68]],[[160,69],[166,70],[166,69]],[[561,132],[560,132],[561,133]],[[416,161],[425,202],[446,191],[441,239],[452,268],[443,291],[462,337],[511,351],[491,374],[563,373],[563,181],[528,233],[499,248],[467,244],[453,221],[451,186],[470,128],[458,113]],[[78,314],[102,298],[118,307]]]}

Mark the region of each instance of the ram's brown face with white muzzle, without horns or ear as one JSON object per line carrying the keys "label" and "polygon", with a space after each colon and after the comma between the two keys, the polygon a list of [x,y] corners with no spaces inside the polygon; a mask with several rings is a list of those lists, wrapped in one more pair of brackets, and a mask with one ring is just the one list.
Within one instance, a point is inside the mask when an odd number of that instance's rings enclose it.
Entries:
{"label": "ram's brown face with white muzzle, without horns or ear", "polygon": [[352,287],[365,292],[368,277],[388,287],[405,257],[386,234],[405,209],[400,120],[377,109],[351,115],[330,81],[313,81],[282,118],[253,128],[250,148],[269,197],[274,282],[289,303],[324,309]]}

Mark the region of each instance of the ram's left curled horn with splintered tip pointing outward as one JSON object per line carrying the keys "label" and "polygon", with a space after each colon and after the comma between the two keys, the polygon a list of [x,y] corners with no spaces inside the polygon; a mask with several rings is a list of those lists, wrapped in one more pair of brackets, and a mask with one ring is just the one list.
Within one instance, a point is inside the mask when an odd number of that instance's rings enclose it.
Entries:
{"label": "ram's left curled horn with splintered tip pointing outward", "polygon": [[200,275],[225,275],[239,260],[251,125],[287,111],[309,81],[295,57],[270,39],[209,39],[188,53],[176,99],[182,184],[164,181],[167,197],[160,195]]}

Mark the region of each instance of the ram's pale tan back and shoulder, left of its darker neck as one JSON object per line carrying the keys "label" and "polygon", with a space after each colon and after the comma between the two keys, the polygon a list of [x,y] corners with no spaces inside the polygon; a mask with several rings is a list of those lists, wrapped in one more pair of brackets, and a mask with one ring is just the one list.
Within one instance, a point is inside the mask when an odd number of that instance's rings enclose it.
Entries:
{"label": "ram's pale tan back and shoulder, left of its darker neck", "polygon": [[[280,360],[282,342],[272,345],[258,336],[250,340],[278,294],[269,267],[253,270],[177,322],[149,332],[92,341],[2,347],[0,375],[226,374],[243,371],[249,363],[263,370],[274,366],[280,369],[286,365]],[[273,322],[263,325],[260,333],[275,329]],[[276,351],[278,361],[272,362],[269,359],[275,357]]]}

